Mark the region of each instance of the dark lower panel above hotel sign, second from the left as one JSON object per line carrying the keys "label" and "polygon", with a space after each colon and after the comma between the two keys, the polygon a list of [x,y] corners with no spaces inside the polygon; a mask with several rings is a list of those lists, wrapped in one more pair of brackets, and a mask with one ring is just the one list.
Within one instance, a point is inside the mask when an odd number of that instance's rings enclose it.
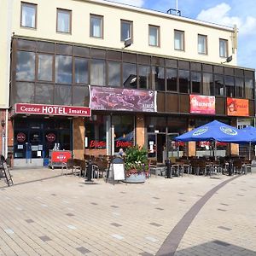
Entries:
{"label": "dark lower panel above hotel sign, second from the left", "polygon": [[54,86],[52,84],[36,84],[35,103],[53,104]]}

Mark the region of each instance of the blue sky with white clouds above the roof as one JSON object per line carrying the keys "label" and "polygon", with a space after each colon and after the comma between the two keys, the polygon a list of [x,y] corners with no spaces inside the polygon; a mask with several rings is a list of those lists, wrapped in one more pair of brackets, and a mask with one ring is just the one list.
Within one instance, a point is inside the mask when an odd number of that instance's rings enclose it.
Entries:
{"label": "blue sky with white clouds above the roof", "polygon": [[[176,8],[176,0],[112,0],[165,12]],[[256,68],[256,0],[178,0],[184,17],[238,27],[237,65]]]}

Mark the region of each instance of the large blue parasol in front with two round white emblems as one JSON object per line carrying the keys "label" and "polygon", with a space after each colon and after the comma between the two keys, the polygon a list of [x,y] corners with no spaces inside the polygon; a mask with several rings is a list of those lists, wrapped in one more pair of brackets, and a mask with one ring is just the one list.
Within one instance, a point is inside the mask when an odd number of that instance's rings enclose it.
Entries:
{"label": "large blue parasol in front with two round white emblems", "polygon": [[178,142],[218,141],[223,143],[236,143],[245,140],[246,133],[230,125],[214,120],[183,135],[175,137]]}

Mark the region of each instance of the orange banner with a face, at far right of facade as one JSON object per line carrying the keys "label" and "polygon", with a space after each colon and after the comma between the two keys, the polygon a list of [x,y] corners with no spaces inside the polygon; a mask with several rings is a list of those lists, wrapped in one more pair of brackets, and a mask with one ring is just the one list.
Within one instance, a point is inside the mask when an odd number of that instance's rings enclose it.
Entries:
{"label": "orange banner with a face, at far right of facade", "polygon": [[227,113],[235,116],[249,116],[249,101],[227,98]]}

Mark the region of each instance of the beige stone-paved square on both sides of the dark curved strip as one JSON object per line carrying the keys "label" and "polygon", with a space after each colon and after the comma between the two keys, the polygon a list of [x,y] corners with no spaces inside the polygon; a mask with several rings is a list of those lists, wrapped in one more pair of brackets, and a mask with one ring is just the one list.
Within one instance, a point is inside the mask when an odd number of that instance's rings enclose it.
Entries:
{"label": "beige stone-paved square on both sides of the dark curved strip", "polygon": [[[61,170],[11,174],[14,186],[0,180],[0,255],[155,255],[189,209],[230,179],[153,176],[113,185]],[[256,255],[256,174],[208,198],[175,255]]]}

